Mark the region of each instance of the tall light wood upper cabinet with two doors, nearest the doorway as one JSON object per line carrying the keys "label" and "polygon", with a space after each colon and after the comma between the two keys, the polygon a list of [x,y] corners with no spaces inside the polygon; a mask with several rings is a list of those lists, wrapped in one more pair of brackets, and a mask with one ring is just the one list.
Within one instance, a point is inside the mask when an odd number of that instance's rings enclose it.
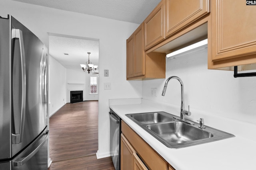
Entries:
{"label": "tall light wood upper cabinet with two doors, nearest the doorway", "polygon": [[145,53],[144,23],[126,40],[126,80],[165,78],[165,53]]}

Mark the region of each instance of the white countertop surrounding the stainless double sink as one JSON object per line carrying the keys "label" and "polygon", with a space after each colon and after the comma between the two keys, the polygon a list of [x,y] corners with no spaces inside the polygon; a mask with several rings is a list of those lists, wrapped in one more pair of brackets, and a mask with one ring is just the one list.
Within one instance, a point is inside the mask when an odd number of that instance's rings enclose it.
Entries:
{"label": "white countertop surrounding the stainless double sink", "polygon": [[256,141],[254,140],[246,139],[233,133],[236,137],[192,147],[171,149],[163,145],[125,115],[129,113],[162,111],[159,108],[147,104],[125,104],[110,105],[110,109],[118,114],[123,121],[176,170],[256,169]]}

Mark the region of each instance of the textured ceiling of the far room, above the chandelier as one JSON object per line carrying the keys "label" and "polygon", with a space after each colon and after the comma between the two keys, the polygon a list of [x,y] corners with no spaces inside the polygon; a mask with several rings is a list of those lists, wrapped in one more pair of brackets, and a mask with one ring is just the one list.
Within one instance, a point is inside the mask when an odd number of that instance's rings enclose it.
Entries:
{"label": "textured ceiling of the far room, above the chandelier", "polygon": [[[92,64],[98,65],[99,41],[49,36],[50,55],[66,68],[82,71],[80,64],[85,64],[88,61],[87,52],[91,53]],[[68,55],[64,55],[64,53],[68,53]]]}

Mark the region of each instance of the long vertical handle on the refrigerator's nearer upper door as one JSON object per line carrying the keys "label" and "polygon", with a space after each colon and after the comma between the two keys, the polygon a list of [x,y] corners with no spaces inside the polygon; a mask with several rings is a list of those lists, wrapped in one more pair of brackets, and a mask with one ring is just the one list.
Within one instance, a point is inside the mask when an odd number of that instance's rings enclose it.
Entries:
{"label": "long vertical handle on the refrigerator's nearer upper door", "polygon": [[20,61],[21,61],[21,74],[22,74],[22,100],[21,100],[21,114],[20,114],[20,129],[18,134],[12,134],[14,140],[12,143],[19,144],[22,142],[24,123],[25,123],[25,111],[26,111],[26,65],[25,65],[25,52],[23,34],[20,29],[12,29],[12,39],[19,39],[20,44]]}

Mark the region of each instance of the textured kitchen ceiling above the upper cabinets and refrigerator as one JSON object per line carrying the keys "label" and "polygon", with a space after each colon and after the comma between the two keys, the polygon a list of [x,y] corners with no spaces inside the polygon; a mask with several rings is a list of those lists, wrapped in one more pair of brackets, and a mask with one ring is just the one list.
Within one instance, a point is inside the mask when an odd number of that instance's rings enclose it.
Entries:
{"label": "textured kitchen ceiling above the upper cabinets and refrigerator", "polygon": [[142,23],[161,0],[15,0],[113,20]]}

